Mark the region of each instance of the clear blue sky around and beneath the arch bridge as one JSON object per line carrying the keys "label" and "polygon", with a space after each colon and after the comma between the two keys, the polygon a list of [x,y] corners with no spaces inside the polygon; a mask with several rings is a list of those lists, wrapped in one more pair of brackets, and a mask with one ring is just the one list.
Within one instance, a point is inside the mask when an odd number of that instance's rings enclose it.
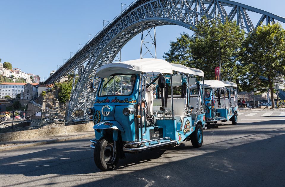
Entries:
{"label": "clear blue sky around and beneath the arch bridge", "polygon": [[[88,42],[89,34],[102,29],[103,20],[112,20],[121,12],[121,3],[133,0],[0,0],[0,58],[26,73],[40,75],[43,80],[78,44]],[[236,0],[285,17],[283,0]],[[250,15],[259,19],[256,15]],[[106,24],[106,23],[105,23]],[[284,27],[284,25],[283,25]],[[156,29],[157,58],[169,50],[169,42],[182,32],[181,26]],[[122,49],[122,60],[140,56],[140,36]]]}

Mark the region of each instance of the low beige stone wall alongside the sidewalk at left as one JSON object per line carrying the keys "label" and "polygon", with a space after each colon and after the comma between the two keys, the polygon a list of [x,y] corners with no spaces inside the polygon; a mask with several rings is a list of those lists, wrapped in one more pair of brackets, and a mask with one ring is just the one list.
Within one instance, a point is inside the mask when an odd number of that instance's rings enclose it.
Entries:
{"label": "low beige stone wall alongside the sidewalk at left", "polygon": [[83,123],[78,125],[61,126],[61,127],[50,127],[42,129],[33,129],[26,131],[16,131],[16,132],[6,132],[0,134],[0,142],[20,140],[20,139],[30,139],[44,136],[51,136],[57,134],[66,134],[73,132],[82,132],[93,130],[93,122]]}

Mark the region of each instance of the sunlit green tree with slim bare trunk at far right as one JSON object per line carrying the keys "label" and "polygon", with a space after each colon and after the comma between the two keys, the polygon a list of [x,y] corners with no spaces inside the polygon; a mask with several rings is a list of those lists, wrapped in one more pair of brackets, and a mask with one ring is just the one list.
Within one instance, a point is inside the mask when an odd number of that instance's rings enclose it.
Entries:
{"label": "sunlit green tree with slim bare trunk at far right", "polygon": [[241,65],[246,71],[243,85],[246,90],[264,93],[271,90],[274,108],[274,83],[276,74],[285,74],[285,30],[277,24],[262,25],[248,34],[243,43]]}

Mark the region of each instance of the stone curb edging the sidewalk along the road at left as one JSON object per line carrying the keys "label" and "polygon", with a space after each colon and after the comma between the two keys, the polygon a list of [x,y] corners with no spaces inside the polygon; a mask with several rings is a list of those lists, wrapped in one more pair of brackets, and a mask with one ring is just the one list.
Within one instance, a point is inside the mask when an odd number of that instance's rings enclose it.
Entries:
{"label": "stone curb edging the sidewalk along the road at left", "polygon": [[52,140],[43,140],[43,141],[38,141],[38,142],[23,143],[23,144],[19,144],[19,145],[7,146],[4,148],[0,148],[0,152],[6,151],[6,150],[27,148],[27,147],[32,147],[32,146],[36,146],[36,145],[44,145],[44,144],[48,144],[48,143],[64,142],[64,141],[68,141],[68,140],[75,140],[75,139],[90,137],[90,136],[94,136],[94,133],[80,134],[80,135],[75,135],[75,136],[71,136],[71,137],[62,137],[62,138],[52,139]]}

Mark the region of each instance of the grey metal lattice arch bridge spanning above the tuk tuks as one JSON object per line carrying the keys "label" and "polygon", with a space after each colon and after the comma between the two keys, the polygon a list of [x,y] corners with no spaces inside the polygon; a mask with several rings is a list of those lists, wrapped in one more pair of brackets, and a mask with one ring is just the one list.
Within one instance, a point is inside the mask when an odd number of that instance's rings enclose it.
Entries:
{"label": "grey metal lattice arch bridge spanning above the tuk tuks", "polygon": [[[256,24],[252,23],[249,12],[260,15]],[[285,23],[283,17],[229,0],[136,0],[45,80],[46,84],[54,83],[74,71],[67,121],[72,118],[74,111],[85,111],[86,107],[93,105],[95,92],[90,92],[89,81],[96,77],[98,67],[114,61],[130,39],[155,26],[195,28],[202,16],[222,22],[226,19],[237,20],[237,25],[247,32],[265,21],[266,24],[276,21]],[[98,79],[95,81],[96,87]],[[85,115],[85,118],[88,116]]]}

